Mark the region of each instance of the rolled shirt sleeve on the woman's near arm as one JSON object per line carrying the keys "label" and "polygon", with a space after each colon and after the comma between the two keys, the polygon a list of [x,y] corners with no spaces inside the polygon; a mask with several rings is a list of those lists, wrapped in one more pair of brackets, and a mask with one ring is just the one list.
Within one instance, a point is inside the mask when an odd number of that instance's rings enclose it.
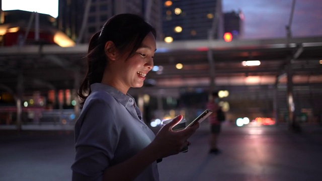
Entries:
{"label": "rolled shirt sleeve on the woman's near arm", "polygon": [[107,102],[90,100],[77,122],[72,180],[102,180],[119,138],[113,112]]}

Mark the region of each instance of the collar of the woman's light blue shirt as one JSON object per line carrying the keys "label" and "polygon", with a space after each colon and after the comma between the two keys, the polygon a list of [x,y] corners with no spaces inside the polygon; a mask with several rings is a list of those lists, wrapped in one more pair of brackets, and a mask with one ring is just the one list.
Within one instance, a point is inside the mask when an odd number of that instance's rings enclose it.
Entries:
{"label": "collar of the woman's light blue shirt", "polygon": [[109,93],[111,96],[113,96],[118,102],[120,102],[124,107],[127,105],[133,105],[136,107],[134,98],[130,96],[128,93],[125,95],[121,93],[118,89],[104,84],[104,83],[93,83],[91,84],[91,90],[92,92],[95,91],[105,91]]}

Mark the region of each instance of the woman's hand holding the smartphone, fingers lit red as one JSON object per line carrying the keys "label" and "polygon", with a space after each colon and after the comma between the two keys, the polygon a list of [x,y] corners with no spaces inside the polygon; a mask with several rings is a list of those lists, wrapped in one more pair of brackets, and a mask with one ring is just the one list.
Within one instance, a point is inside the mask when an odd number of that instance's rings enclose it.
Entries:
{"label": "woman's hand holding the smartphone, fingers lit red", "polygon": [[158,152],[160,158],[178,154],[183,147],[190,145],[187,139],[199,128],[199,123],[197,122],[193,126],[183,130],[173,131],[172,128],[182,118],[182,115],[179,115],[163,126],[152,141],[151,145],[155,147],[155,151]]}

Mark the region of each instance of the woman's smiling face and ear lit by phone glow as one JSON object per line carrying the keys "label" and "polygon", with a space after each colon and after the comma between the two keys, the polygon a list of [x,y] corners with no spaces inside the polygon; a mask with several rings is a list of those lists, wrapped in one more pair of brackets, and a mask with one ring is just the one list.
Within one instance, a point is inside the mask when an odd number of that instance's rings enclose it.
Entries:
{"label": "woman's smiling face and ear lit by phone glow", "polygon": [[103,76],[102,83],[111,85],[124,94],[130,87],[143,86],[146,74],[153,68],[155,50],[155,38],[152,33],[149,33],[130,58],[126,59],[128,55],[123,54],[111,61],[106,70],[109,73]]}

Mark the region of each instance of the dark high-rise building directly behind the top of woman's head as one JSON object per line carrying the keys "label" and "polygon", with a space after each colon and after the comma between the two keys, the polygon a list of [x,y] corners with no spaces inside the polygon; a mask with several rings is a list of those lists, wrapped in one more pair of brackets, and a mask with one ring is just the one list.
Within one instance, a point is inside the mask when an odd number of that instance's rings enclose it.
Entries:
{"label": "dark high-rise building directly behind the top of woman's head", "polygon": [[[162,30],[161,0],[59,0],[58,28],[78,43],[87,43],[114,15],[141,15]],[[159,33],[160,34],[160,33]]]}

